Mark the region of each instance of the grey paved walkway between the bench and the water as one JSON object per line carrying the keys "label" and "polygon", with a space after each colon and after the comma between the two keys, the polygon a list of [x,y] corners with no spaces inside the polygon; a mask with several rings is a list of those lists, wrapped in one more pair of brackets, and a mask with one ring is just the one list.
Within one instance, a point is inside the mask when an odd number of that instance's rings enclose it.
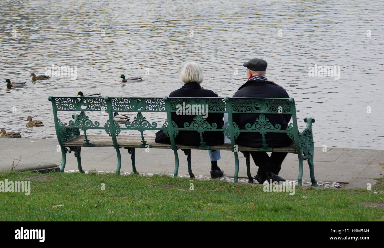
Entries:
{"label": "grey paved walkway between the bench and the water", "polygon": [[[56,139],[0,138],[0,172],[11,170],[13,160],[21,160],[17,168],[28,168],[36,164],[59,165],[61,152],[57,148]],[[179,152],[179,174],[188,174],[187,156]],[[132,171],[131,155],[121,149],[121,171]],[[239,155],[242,155],[239,153]],[[218,166],[224,175],[233,177],[235,162],[233,153],[222,151]],[[239,177],[247,177],[245,158],[240,158]],[[117,157],[114,148],[82,147],[81,159],[84,170],[111,171],[116,170]],[[14,164],[17,164],[18,160]],[[303,180],[310,180],[310,172],[304,161]],[[174,171],[174,155],[169,149],[136,149],[136,168],[143,173],[172,174]],[[348,183],[347,188],[366,188],[372,185],[374,178],[384,175],[384,150],[340,149],[332,148],[323,152],[322,148],[314,150],[314,172],[316,180],[324,182]],[[66,170],[77,170],[77,162],[73,153],[67,153]],[[210,161],[206,150],[192,150],[192,171],[195,175],[207,176],[210,172]],[[251,172],[255,175],[257,167],[251,161]],[[283,162],[280,174],[285,179],[297,180],[298,159],[296,154],[288,154]]]}

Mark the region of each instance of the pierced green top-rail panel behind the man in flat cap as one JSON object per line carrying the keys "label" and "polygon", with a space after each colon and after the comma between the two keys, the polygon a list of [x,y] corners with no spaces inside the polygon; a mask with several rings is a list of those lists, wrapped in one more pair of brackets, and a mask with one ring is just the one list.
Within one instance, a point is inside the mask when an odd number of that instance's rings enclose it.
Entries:
{"label": "pierced green top-rail panel behind the man in flat cap", "polygon": [[288,99],[232,98],[233,112],[252,113],[291,113],[291,103]]}

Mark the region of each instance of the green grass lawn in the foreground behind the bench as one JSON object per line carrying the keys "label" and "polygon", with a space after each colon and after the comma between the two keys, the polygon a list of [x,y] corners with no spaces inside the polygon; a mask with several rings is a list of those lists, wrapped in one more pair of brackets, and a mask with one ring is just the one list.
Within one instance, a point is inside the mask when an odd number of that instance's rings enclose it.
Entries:
{"label": "green grass lawn in the foreground behind the bench", "polygon": [[[40,174],[5,172],[0,181]],[[263,192],[263,185],[155,175],[51,173],[31,181],[31,193],[0,192],[2,221],[383,221],[384,177],[372,190],[296,186]],[[40,178],[41,179],[41,178]],[[101,184],[105,190],[101,190]],[[378,192],[377,194],[373,191]],[[306,198],[303,198],[306,197]],[[64,205],[56,207],[56,205]]]}

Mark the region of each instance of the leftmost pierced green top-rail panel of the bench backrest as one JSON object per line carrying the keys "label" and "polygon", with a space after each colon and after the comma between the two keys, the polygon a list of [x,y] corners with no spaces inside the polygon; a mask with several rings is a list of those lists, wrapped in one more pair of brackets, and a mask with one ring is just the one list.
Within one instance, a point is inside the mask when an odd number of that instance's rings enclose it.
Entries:
{"label": "leftmost pierced green top-rail panel of the bench backrest", "polygon": [[57,110],[106,111],[107,104],[100,97],[61,97],[55,98]]}

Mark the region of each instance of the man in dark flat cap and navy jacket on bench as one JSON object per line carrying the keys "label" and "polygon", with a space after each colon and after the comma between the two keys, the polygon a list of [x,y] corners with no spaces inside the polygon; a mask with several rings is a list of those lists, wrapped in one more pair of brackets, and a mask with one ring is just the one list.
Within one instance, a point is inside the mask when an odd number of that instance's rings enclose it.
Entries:
{"label": "man in dark flat cap and navy jacket on bench", "polygon": [[[283,87],[278,86],[273,81],[268,81],[265,77],[267,63],[264,60],[254,58],[244,64],[247,67],[248,81],[243,84],[233,97],[252,97],[252,98],[289,98]],[[253,124],[259,114],[233,114],[233,121],[240,127],[245,129],[245,124]],[[281,125],[281,130],[286,130],[291,114],[265,114],[265,117],[275,126]],[[292,140],[281,133],[267,133],[265,135],[268,147],[284,147],[292,143]],[[262,147],[262,136],[258,132],[241,132],[236,143],[249,147]],[[259,184],[263,184],[265,180],[272,182],[285,181],[278,176],[281,163],[288,153],[272,152],[271,157],[266,152],[250,152],[253,161],[259,167],[255,179]]]}

